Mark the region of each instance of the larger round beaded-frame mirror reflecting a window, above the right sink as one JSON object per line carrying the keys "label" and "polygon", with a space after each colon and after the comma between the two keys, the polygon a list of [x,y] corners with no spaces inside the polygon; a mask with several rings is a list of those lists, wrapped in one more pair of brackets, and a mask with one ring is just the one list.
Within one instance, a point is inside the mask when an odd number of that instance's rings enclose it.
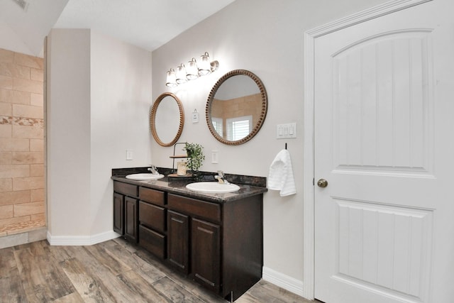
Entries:
{"label": "larger round beaded-frame mirror reflecting a window, above the right sink", "polygon": [[248,70],[232,70],[211,89],[206,101],[206,123],[216,140],[239,145],[258,133],[267,108],[267,92],[259,77]]}

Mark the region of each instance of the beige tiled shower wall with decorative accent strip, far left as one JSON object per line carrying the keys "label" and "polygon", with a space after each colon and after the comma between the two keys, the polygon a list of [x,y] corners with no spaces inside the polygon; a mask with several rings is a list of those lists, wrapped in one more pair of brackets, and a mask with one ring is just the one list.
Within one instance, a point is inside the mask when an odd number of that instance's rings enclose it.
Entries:
{"label": "beige tiled shower wall with decorative accent strip, far left", "polygon": [[45,226],[43,61],[0,49],[0,236]]}

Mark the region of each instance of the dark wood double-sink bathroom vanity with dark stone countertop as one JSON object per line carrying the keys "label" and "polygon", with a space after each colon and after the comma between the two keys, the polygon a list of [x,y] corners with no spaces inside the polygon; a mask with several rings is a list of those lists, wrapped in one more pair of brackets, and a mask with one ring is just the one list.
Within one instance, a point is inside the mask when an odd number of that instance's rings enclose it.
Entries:
{"label": "dark wood double-sink bathroom vanity with dark stone countertop", "polygon": [[206,194],[167,179],[112,179],[114,231],[128,241],[228,300],[261,279],[266,187],[237,183],[238,192]]}

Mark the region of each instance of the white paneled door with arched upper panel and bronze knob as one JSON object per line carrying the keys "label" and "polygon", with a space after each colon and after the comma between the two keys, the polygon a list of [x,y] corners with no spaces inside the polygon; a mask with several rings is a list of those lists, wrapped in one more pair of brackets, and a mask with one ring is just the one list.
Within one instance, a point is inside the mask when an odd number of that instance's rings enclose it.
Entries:
{"label": "white paneled door with arched upper panel and bronze knob", "polygon": [[315,54],[316,299],[454,302],[454,1],[323,35]]}

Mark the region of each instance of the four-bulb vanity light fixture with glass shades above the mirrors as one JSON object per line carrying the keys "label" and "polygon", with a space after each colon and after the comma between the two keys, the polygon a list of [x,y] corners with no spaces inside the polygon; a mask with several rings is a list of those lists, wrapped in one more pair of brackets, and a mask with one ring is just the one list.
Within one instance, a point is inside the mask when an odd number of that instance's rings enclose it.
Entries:
{"label": "four-bulb vanity light fixture with glass shades above the mirrors", "polygon": [[167,87],[177,87],[179,84],[187,82],[187,80],[194,80],[201,76],[206,76],[214,72],[219,67],[217,60],[211,61],[208,52],[205,52],[200,56],[200,61],[196,62],[195,58],[192,58],[187,62],[187,67],[184,64],[177,67],[177,72],[171,68],[167,72],[167,81],[165,85]]}

